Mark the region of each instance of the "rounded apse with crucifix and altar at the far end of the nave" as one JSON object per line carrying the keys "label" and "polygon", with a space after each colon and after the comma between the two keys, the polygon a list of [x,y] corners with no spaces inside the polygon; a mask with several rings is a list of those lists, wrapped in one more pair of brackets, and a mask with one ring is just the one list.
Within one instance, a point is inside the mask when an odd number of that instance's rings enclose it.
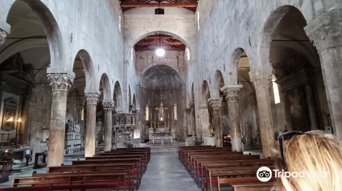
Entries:
{"label": "rounded apse with crucifix and altar at the far end of the nave", "polygon": [[150,130],[171,132],[172,138],[182,138],[181,108],[185,104],[182,85],[179,73],[168,65],[154,65],[142,74],[140,108],[144,110],[140,119],[144,119],[146,141],[150,139]]}

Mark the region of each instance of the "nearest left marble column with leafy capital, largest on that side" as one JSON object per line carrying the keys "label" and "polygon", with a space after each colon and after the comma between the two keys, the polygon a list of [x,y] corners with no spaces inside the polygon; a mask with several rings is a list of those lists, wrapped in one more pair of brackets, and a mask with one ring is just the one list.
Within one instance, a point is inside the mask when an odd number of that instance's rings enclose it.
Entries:
{"label": "nearest left marble column with leafy capital, largest on that side", "polygon": [[66,98],[74,78],[69,74],[47,74],[47,78],[52,87],[47,166],[61,166],[64,163]]}

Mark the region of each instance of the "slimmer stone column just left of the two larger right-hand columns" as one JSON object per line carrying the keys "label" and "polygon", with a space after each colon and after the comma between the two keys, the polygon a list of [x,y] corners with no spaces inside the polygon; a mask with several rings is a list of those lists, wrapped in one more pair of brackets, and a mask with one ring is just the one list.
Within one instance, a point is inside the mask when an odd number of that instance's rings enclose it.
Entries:
{"label": "slimmer stone column just left of the two larger right-hand columns", "polygon": [[209,106],[213,108],[213,121],[212,126],[215,134],[215,146],[216,147],[223,147],[223,140],[222,140],[222,126],[221,126],[221,100],[220,98],[209,98],[208,100]]}

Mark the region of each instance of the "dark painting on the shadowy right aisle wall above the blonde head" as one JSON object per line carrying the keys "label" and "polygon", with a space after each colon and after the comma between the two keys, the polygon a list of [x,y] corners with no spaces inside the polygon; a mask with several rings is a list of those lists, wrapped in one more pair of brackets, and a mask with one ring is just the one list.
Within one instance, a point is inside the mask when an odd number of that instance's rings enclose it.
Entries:
{"label": "dark painting on the shadowy right aisle wall above the blonde head", "polygon": [[296,87],[287,91],[289,111],[293,130],[310,130],[304,88]]}

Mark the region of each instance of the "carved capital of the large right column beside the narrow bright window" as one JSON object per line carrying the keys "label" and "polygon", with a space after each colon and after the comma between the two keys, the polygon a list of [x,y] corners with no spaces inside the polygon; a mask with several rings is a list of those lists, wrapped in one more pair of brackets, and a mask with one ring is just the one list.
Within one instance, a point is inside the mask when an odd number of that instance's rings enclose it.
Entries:
{"label": "carved capital of the large right column beside the narrow bright window", "polygon": [[261,87],[268,89],[272,80],[272,68],[267,68],[265,70],[250,71],[250,81],[255,87]]}

